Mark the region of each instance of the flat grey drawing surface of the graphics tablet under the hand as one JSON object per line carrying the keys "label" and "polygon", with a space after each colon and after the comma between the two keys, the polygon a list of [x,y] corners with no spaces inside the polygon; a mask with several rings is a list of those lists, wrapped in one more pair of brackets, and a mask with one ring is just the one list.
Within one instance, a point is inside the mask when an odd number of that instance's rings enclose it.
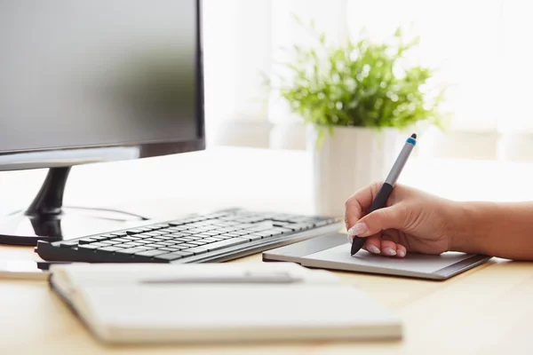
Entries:
{"label": "flat grey drawing surface of the graphics tablet under the hand", "polygon": [[360,250],[350,256],[350,244],[346,243],[335,248],[322,250],[305,256],[305,259],[354,264],[384,269],[403,270],[407,272],[436,272],[449,265],[463,261],[472,254],[447,252],[440,256],[408,253],[404,258],[376,256],[366,250]]}

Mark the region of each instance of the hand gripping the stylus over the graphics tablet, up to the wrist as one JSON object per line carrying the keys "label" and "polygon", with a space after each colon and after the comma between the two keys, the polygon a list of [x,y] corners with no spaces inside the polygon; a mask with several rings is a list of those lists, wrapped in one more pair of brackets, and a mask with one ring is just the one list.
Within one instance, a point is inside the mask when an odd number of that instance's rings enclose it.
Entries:
{"label": "hand gripping the stylus over the graphics tablet, up to the wrist", "polygon": [[381,185],[370,185],[346,201],[350,242],[354,236],[366,237],[363,248],[382,256],[404,257],[408,251],[441,254],[450,249],[450,231],[457,213],[453,201],[395,185],[386,207],[367,214]]}

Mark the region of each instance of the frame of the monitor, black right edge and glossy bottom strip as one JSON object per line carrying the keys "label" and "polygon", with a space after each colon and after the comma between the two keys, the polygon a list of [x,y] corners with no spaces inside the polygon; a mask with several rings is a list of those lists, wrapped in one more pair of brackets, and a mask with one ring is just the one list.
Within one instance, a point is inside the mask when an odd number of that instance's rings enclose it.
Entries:
{"label": "frame of the monitor, black right edge and glossy bottom strip", "polygon": [[93,162],[115,162],[205,149],[202,1],[196,0],[196,138],[157,142],[116,143],[0,152],[0,171],[61,168]]}

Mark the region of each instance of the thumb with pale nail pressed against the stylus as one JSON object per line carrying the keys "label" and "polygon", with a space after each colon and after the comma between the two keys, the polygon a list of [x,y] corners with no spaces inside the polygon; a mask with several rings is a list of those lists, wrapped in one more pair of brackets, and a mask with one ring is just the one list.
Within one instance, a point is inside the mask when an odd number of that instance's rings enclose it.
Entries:
{"label": "thumb with pale nail pressed against the stylus", "polygon": [[384,209],[376,209],[348,230],[348,237],[368,237],[386,229],[402,229],[405,218],[403,209],[397,205]]}

